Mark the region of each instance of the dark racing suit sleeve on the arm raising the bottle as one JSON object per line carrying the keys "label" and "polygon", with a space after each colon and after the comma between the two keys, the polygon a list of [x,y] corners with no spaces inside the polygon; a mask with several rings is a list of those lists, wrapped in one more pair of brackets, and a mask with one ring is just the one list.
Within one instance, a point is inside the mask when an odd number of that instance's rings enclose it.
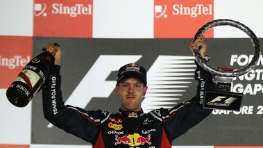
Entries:
{"label": "dark racing suit sleeve on the arm raising the bottle", "polygon": [[65,106],[60,89],[60,66],[55,65],[52,76],[42,89],[43,111],[46,120],[63,129],[67,133],[76,135],[94,144],[99,136],[100,110],[85,111],[82,108]]}

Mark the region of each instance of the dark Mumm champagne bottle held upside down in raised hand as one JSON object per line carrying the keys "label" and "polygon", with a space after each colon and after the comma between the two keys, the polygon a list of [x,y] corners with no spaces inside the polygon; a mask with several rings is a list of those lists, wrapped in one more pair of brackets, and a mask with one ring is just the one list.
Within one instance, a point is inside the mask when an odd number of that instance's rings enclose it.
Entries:
{"label": "dark Mumm champagne bottle held upside down in raised hand", "polygon": [[[54,45],[59,47],[58,43]],[[6,91],[6,97],[11,104],[24,107],[42,89],[44,83],[50,79],[55,58],[42,49],[42,54],[35,56],[18,74]]]}

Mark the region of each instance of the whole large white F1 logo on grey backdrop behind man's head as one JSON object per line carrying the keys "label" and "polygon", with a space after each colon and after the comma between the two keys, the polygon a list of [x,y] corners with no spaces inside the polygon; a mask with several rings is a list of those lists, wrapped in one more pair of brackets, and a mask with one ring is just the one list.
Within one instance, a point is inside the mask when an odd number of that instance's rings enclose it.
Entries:
{"label": "whole large white F1 logo on grey backdrop behind man's head", "polygon": [[[142,55],[99,56],[65,104],[85,108],[94,97],[110,97],[116,81],[106,81],[108,76],[126,63],[136,63],[140,58]],[[187,70],[184,67],[187,67]],[[144,112],[156,109],[156,104],[167,108],[176,105],[176,101],[180,99],[175,96],[182,96],[187,84],[192,83],[195,68],[193,56],[158,56],[147,71],[147,77],[151,81],[147,83],[149,88],[142,101]],[[52,124],[49,124],[48,127],[51,126]]]}

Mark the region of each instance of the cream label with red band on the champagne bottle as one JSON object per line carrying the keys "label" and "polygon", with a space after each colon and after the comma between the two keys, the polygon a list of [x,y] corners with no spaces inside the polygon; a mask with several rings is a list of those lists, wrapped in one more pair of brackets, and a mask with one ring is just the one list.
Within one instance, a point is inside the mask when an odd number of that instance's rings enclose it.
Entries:
{"label": "cream label with red band on the champagne bottle", "polygon": [[15,79],[15,81],[26,83],[30,89],[32,89],[39,80],[40,76],[30,69],[23,69]]}

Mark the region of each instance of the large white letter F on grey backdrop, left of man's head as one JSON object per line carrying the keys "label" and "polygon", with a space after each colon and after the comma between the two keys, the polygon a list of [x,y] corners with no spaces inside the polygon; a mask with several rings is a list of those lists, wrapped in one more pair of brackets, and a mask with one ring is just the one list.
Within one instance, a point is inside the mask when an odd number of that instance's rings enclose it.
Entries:
{"label": "large white letter F on grey backdrop, left of man's head", "polygon": [[[99,56],[94,65],[90,68],[90,71],[87,72],[74,92],[69,96],[69,99],[67,99],[65,104],[73,104],[74,106],[85,108],[92,97],[109,97],[114,90],[116,81],[105,81],[105,79],[108,78],[112,71],[118,71],[119,67],[123,66],[124,63],[136,62],[141,57],[142,56],[135,55]],[[100,88],[103,91],[98,91],[97,88]],[[87,93],[87,91],[89,91],[89,93]],[[76,98],[82,98],[83,96],[85,96],[85,99],[76,100]]]}

